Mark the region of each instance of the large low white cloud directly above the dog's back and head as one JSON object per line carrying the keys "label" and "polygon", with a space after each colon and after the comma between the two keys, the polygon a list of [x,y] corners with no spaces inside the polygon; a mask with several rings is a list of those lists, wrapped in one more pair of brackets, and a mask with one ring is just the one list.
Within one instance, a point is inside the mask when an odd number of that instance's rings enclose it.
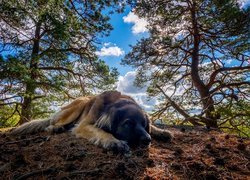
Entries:
{"label": "large low white cloud directly above the dog's back and head", "polygon": [[152,111],[157,104],[157,100],[154,98],[148,99],[146,86],[143,88],[134,86],[135,76],[135,71],[130,71],[124,76],[120,76],[117,83],[117,90],[133,97],[145,111]]}

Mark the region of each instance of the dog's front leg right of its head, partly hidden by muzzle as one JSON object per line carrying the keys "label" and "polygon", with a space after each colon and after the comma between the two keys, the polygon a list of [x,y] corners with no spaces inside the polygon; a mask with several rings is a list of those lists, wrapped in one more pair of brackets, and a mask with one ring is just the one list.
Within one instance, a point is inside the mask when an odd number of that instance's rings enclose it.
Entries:
{"label": "dog's front leg right of its head, partly hidden by muzzle", "polygon": [[150,125],[150,134],[153,138],[166,142],[170,142],[173,138],[168,130],[157,128],[152,124]]}

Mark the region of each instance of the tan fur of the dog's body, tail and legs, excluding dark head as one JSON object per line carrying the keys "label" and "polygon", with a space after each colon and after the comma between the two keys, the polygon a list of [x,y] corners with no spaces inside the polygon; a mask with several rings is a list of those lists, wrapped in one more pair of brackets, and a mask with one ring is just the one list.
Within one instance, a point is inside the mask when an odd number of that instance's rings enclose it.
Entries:
{"label": "tan fur of the dog's body, tail and legs, excluding dark head", "polygon": [[[105,103],[113,103],[119,98],[133,100],[131,97],[121,95],[117,91],[107,91],[97,96],[80,97],[70,104],[61,108],[59,112],[54,114],[47,121],[31,121],[16,129],[11,134],[25,134],[32,130],[53,131],[53,129],[63,127],[72,122],[79,124],[72,130],[77,137],[88,139],[96,145],[103,148],[111,148],[118,146],[124,148],[127,146],[124,141],[116,139],[112,134],[100,129],[102,125],[111,126],[110,117],[107,114],[101,115]],[[133,100],[134,101],[134,100]],[[98,123],[96,123],[98,121]],[[39,126],[40,128],[36,128]],[[151,125],[151,133],[154,135],[165,135],[171,139],[171,134]],[[125,147],[126,148],[126,147]]]}

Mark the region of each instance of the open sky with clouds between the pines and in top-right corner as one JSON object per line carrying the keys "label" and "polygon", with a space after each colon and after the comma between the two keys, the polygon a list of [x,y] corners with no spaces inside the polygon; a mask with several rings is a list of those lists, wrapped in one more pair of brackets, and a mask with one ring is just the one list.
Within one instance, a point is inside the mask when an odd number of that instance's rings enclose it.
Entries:
{"label": "open sky with clouds between the pines and in top-right corner", "polygon": [[[250,5],[250,0],[238,0],[241,7]],[[131,47],[147,34],[147,22],[139,19],[129,8],[124,13],[115,13],[111,16],[110,23],[114,30],[108,37],[101,38],[100,50],[96,54],[110,67],[116,67],[120,73],[117,90],[132,96],[145,110],[150,111],[157,104],[156,99],[148,100],[146,87],[137,88],[133,85],[136,70],[129,66],[121,65],[121,59]]]}

